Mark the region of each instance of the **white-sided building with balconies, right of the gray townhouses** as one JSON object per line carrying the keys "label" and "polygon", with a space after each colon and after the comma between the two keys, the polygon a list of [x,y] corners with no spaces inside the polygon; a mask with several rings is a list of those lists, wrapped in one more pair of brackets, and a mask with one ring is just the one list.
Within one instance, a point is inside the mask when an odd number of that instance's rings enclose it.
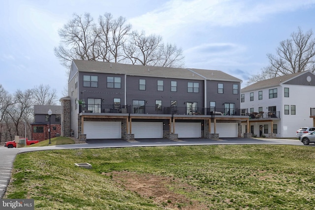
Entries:
{"label": "white-sided building with balconies, right of the gray townhouses", "polygon": [[242,134],[295,137],[302,126],[313,126],[315,74],[310,71],[256,82],[241,90]]}

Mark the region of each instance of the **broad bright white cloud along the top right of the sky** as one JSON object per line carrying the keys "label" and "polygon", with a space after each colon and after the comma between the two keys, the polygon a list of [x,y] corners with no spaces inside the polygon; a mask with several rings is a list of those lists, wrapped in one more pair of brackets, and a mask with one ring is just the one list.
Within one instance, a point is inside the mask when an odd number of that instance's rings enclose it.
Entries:
{"label": "broad bright white cloud along the top right of the sky", "polygon": [[[270,15],[297,10],[315,0],[170,0],[161,8],[130,19],[134,29],[162,35],[191,24],[203,27],[235,27]],[[162,31],[162,32],[161,32]]]}

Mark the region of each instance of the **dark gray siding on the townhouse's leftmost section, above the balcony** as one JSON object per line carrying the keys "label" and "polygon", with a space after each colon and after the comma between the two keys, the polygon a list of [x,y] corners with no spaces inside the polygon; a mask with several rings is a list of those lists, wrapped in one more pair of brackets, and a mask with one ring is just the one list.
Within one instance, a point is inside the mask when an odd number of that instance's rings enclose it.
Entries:
{"label": "dark gray siding on the townhouse's leftmost section, above the balcony", "polygon": [[[97,88],[83,87],[83,75],[97,76]],[[120,77],[121,88],[107,88],[107,77]],[[93,72],[80,72],[80,99],[87,103],[88,98],[100,98],[102,105],[112,105],[114,98],[120,98],[121,104],[125,104],[125,75],[124,74],[100,74]],[[104,100],[104,101],[103,101]]]}

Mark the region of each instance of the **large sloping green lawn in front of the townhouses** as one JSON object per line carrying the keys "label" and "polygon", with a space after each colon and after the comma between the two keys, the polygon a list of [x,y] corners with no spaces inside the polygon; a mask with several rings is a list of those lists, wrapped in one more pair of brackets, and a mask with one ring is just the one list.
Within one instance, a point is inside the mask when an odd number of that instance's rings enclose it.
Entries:
{"label": "large sloping green lawn in front of the townhouses", "polygon": [[38,151],[16,157],[4,198],[36,210],[313,210],[314,162],[315,147],[285,145]]}

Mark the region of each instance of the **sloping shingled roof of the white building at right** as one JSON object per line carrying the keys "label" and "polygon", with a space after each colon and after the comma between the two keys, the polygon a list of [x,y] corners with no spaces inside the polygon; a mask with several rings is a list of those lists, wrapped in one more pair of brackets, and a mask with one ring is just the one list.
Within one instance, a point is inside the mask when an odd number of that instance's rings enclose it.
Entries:
{"label": "sloping shingled roof of the white building at right", "polygon": [[267,79],[267,80],[262,80],[262,81],[258,81],[252,85],[249,85],[245,88],[243,88],[241,91],[242,92],[246,92],[246,91],[251,91],[251,90],[258,90],[258,89],[263,89],[263,88],[269,88],[269,87],[275,87],[275,86],[280,86],[281,84],[299,76],[302,75],[306,72],[309,71],[301,71],[298,73],[294,73],[294,74],[288,74],[288,75],[284,75],[284,76],[280,76],[280,77],[275,77],[275,78],[271,78],[271,79]]}

